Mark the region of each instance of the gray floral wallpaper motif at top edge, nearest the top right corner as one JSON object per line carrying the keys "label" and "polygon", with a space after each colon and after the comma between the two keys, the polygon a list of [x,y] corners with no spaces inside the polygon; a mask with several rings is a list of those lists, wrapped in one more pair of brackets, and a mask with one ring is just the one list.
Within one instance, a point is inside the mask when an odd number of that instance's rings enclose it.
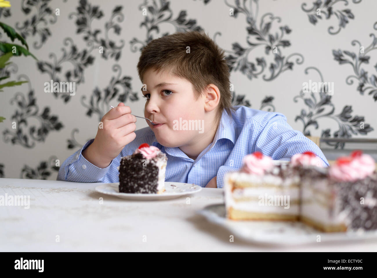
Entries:
{"label": "gray floral wallpaper motif at top edge, nearest the top right corner", "polygon": [[[353,3],[358,4],[362,0],[352,0]],[[305,9],[307,3],[302,3],[301,9],[308,14],[309,22],[313,25],[316,25],[317,18],[322,19],[322,14],[325,15],[326,19],[329,19],[332,15],[335,15],[339,20],[339,28],[336,31],[333,31],[334,26],[330,26],[327,31],[331,35],[338,34],[342,28],[346,27],[346,24],[349,23],[348,19],[354,19],[355,16],[352,14],[350,9],[338,10],[334,9],[334,5],[338,2],[344,2],[344,5],[348,5],[347,0],[318,0],[313,2],[313,7],[310,9]],[[320,9],[320,14],[317,14],[317,9]]]}

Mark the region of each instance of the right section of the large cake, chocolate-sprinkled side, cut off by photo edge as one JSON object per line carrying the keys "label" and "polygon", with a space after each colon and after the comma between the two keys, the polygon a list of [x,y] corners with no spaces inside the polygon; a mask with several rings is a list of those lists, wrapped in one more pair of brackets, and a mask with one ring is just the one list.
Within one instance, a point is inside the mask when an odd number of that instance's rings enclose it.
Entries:
{"label": "right section of the large cake, chocolate-sprinkled side, cut off by photo edge", "polygon": [[301,221],[324,232],[377,229],[374,159],[354,151],[302,176]]}

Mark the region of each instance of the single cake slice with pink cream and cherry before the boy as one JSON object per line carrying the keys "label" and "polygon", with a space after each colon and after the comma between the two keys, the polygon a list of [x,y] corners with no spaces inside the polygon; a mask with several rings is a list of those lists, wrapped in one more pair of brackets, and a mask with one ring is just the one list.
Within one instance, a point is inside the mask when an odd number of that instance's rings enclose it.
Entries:
{"label": "single cake slice with pink cream and cherry before the boy", "polygon": [[167,157],[155,146],[141,144],[119,165],[119,192],[162,193],[165,191]]}

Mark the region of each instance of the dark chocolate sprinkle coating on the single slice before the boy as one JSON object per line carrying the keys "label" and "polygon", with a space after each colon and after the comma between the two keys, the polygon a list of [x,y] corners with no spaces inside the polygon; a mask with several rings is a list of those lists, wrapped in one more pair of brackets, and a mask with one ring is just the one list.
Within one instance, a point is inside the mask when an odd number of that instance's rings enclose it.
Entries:
{"label": "dark chocolate sprinkle coating on the single slice before the boy", "polygon": [[156,161],[161,159],[167,160],[166,154],[159,153],[147,164],[141,153],[124,156],[119,166],[119,192],[157,193],[159,168]]}

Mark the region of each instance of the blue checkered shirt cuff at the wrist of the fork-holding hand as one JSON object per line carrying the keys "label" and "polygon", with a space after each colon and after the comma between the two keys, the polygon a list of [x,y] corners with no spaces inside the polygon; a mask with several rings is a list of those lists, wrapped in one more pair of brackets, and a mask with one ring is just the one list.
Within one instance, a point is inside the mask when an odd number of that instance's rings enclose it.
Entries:
{"label": "blue checkered shirt cuff at the wrist of the fork-holding hand", "polygon": [[99,168],[87,161],[84,158],[82,151],[85,150],[90,144],[92,144],[93,141],[94,139],[90,139],[88,142],[86,142],[81,150],[78,151],[74,156],[71,163],[73,163],[75,171],[77,171],[77,173],[88,179],[97,181],[98,179],[101,179],[106,175],[107,170],[109,170],[111,164],[113,163],[113,160],[106,168]]}

